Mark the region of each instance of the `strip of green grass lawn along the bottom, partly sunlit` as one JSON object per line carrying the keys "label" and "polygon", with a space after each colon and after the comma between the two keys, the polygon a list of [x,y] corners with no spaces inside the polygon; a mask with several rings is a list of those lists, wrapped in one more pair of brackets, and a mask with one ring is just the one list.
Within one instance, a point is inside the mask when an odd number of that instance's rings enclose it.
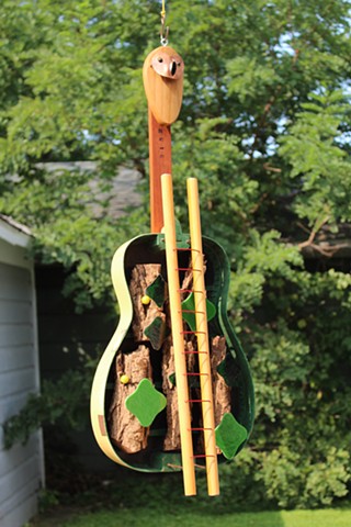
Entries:
{"label": "strip of green grass lawn along the bottom, partly sunlit", "polygon": [[33,527],[350,527],[351,508],[216,514],[177,505],[152,508],[116,508],[81,513],[57,509]]}

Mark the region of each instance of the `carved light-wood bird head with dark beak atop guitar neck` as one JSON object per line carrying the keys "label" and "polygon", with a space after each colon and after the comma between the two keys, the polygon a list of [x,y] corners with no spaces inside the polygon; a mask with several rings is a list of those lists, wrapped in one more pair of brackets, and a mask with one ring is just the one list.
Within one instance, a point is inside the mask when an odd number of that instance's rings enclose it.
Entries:
{"label": "carved light-wood bird head with dark beak atop guitar neck", "polygon": [[169,46],[154,49],[145,59],[144,88],[149,108],[159,124],[172,124],[180,112],[183,96],[184,63]]}

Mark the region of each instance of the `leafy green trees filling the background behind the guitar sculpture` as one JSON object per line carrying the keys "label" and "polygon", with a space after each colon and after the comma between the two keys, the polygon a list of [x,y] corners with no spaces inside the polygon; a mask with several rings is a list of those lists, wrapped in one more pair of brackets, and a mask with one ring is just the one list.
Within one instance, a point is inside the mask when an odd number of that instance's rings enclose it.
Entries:
{"label": "leafy green trees filling the background behind the guitar sculpture", "polygon": [[[177,213],[185,226],[184,180],[197,177],[203,231],[230,258],[229,309],[256,380],[256,429],[223,468],[223,495],[329,504],[350,481],[350,253],[338,258],[350,247],[350,3],[168,9],[185,61]],[[70,271],[80,310],[111,301],[113,251],[147,224],[141,66],[159,10],[143,0],[0,8],[0,209],[32,227],[37,258]],[[91,173],[54,178],[43,165],[77,159],[98,162],[102,190],[118,166],[138,170],[145,204],[115,222],[100,202],[97,216]]]}

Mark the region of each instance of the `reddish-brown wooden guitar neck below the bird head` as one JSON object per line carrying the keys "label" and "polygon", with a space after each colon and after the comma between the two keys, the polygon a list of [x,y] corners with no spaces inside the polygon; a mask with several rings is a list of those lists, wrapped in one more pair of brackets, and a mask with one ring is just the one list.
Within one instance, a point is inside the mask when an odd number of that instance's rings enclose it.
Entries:
{"label": "reddish-brown wooden guitar neck below the bird head", "polygon": [[161,176],[171,173],[171,128],[159,124],[151,110],[149,121],[149,167],[150,167],[150,229],[160,233],[163,227]]}

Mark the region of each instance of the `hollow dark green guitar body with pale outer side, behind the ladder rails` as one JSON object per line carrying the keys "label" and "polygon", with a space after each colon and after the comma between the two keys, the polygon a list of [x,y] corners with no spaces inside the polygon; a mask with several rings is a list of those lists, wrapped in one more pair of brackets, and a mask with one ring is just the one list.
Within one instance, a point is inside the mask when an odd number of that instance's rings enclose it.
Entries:
{"label": "hollow dark green guitar body with pale outer side, behind the ladder rails", "polygon": [[[182,240],[178,251],[181,283],[186,280],[184,270],[189,267],[186,237],[182,236]],[[218,382],[225,385],[229,394],[227,408],[230,408],[229,413],[246,429],[248,437],[253,425],[253,386],[247,358],[227,317],[229,265],[223,248],[217,243],[206,237],[203,237],[202,240],[206,266],[206,294],[208,301],[215,306],[215,314],[208,322],[208,335],[213,341],[214,339],[220,339],[220,341],[225,343],[225,360],[222,360],[218,368],[215,368],[213,379],[216,377]],[[157,345],[152,338],[149,339],[145,336],[146,330],[141,336],[136,336],[135,334],[136,312],[140,310],[140,306],[139,299],[133,292],[132,282],[135,269],[140,269],[140,266],[145,265],[155,265],[161,277],[160,281],[165,282],[165,299],[160,302],[160,307],[156,309],[156,314],[161,321],[165,322],[167,319],[168,298],[165,237],[161,234],[137,236],[120,247],[112,261],[112,280],[121,316],[117,328],[103,352],[95,371],[91,392],[91,422],[100,448],[113,461],[144,472],[170,472],[181,469],[181,452],[177,446],[174,448],[168,446],[165,449],[165,438],[169,434],[170,402],[167,393],[163,393],[167,399],[167,407],[158,413],[150,425],[143,427],[136,423],[137,426],[140,426],[141,431],[145,430],[146,433],[138,451],[131,451],[129,448],[124,448],[120,440],[115,440],[112,437],[111,433],[111,427],[118,427],[120,422],[121,426],[127,427],[133,419],[136,421],[132,414],[128,414],[124,403],[122,406],[121,404],[118,406],[114,404],[114,400],[115,397],[121,399],[122,392],[127,389],[126,386],[129,386],[131,391],[135,391],[133,379],[131,381],[126,379],[125,382],[127,384],[121,382],[116,363],[122,363],[124,358],[131,360],[132,357],[138,357],[138,349],[141,349],[139,348],[140,346],[143,347],[143,352],[148,354],[146,357],[149,357],[150,365],[144,365],[145,371],[150,372],[150,381],[156,390],[162,393],[165,392],[165,385],[169,384],[173,392],[177,391],[176,386],[171,384],[171,382],[174,384],[174,381],[171,381],[172,371],[165,371],[163,359],[167,343],[171,339],[167,323],[163,336],[161,339],[158,339]],[[186,294],[184,293],[185,296]],[[141,311],[147,311],[148,309],[148,306],[144,306]],[[188,327],[185,322],[184,327]],[[169,350],[170,347],[167,349]],[[139,372],[136,371],[135,374],[138,375]],[[192,390],[196,390],[196,386]],[[194,419],[200,421],[201,426],[201,417],[197,414],[194,405]],[[125,425],[122,425],[123,419]],[[112,421],[113,425],[111,424]],[[139,433],[136,434],[132,430],[133,434],[136,436]],[[196,433],[194,435],[196,436]],[[194,440],[196,442],[197,437]],[[239,446],[235,455],[242,448],[246,440]],[[224,459],[223,456],[219,455],[219,457]],[[199,463],[202,462],[200,459]]]}

